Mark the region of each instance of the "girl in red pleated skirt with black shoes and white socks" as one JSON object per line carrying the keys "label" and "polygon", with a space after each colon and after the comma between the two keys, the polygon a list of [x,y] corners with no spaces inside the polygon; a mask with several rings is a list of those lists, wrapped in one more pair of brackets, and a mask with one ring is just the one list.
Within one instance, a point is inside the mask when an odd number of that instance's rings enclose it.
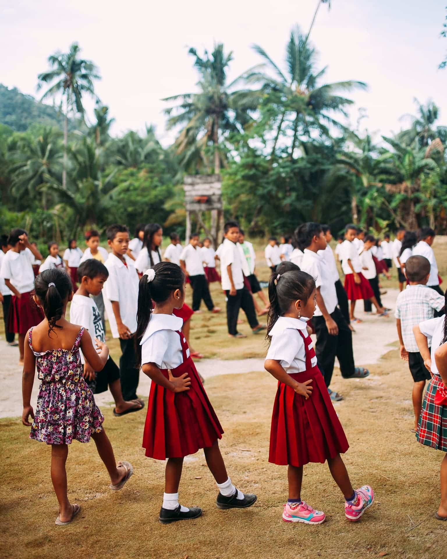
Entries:
{"label": "girl in red pleated skirt with black shoes and white socks", "polygon": [[186,508],[178,503],[183,458],[199,448],[220,490],[218,508],[248,508],[256,501],[256,495],[244,495],[227,475],[218,446],[222,427],[189,354],[181,331],[183,321],[173,315],[174,309],[183,306],[185,285],[177,264],[160,262],[144,273],[138,295],[137,357],[152,381],[142,446],[150,458],[168,458],[159,515],[163,524],[202,514],[197,506]]}

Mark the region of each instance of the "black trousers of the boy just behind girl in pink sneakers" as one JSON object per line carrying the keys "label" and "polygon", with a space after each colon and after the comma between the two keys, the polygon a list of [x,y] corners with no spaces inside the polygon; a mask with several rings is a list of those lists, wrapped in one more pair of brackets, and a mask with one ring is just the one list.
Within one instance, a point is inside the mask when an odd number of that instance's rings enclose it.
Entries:
{"label": "black trousers of the boy just behind girl in pink sneakers", "polygon": [[340,309],[335,308],[331,314],[331,318],[335,320],[339,327],[337,336],[332,336],[327,330],[326,321],[323,316],[314,316],[312,319],[313,328],[317,335],[317,343],[315,344],[315,353],[318,363],[321,363],[325,374],[325,383],[329,387],[334,372],[335,357],[340,363],[341,376],[349,378],[354,375],[354,353],[353,353],[353,336],[351,330],[343,318]]}

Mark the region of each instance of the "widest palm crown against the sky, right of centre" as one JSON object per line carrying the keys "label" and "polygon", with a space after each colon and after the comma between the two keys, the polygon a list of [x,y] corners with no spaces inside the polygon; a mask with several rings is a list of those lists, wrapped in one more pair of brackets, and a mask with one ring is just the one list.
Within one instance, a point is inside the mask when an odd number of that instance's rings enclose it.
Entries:
{"label": "widest palm crown against the sky, right of centre", "polygon": [[346,131],[345,127],[332,117],[332,113],[339,112],[347,116],[345,107],[351,105],[353,101],[341,97],[337,92],[351,91],[355,88],[365,89],[367,87],[365,83],[349,80],[318,85],[327,67],[316,72],[316,50],[308,44],[307,37],[301,34],[298,26],[291,31],[286,45],[285,72],[280,70],[261,46],[253,45],[253,49],[264,59],[274,74],[273,76],[260,72],[246,74],[249,83],[263,83],[263,90],[268,94],[267,103],[270,105],[273,102],[277,108],[277,117],[273,119],[277,124],[277,131],[270,156],[272,160],[287,117],[291,119],[289,124],[293,130],[289,151],[291,159],[299,136],[310,137],[312,129],[317,129],[326,135],[329,135],[326,125]]}

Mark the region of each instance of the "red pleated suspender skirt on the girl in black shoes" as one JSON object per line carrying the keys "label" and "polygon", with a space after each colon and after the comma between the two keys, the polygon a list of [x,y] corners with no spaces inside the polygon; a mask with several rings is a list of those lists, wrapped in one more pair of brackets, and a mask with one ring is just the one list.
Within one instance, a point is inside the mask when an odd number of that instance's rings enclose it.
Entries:
{"label": "red pleated suspender skirt on the girl in black shoes", "polygon": [[[222,438],[222,427],[198,377],[194,362],[187,355],[188,344],[181,331],[183,363],[171,369],[174,377],[188,373],[191,386],[185,392],[171,392],[151,383],[148,414],[144,425],[143,448],[146,456],[164,460],[194,454]],[[160,369],[168,378],[168,369]]]}

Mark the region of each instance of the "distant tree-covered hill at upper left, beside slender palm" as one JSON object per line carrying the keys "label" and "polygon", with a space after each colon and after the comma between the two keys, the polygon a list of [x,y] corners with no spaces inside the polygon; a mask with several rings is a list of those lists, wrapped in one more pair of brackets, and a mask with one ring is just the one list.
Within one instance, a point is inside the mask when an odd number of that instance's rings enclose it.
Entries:
{"label": "distant tree-covered hill at upper left, beside slender palm", "polygon": [[[0,123],[10,126],[17,132],[24,132],[32,124],[57,126],[61,130],[64,117],[56,107],[36,101],[32,95],[21,93],[16,87],[8,89],[0,83]],[[75,129],[69,120],[69,130]]]}

